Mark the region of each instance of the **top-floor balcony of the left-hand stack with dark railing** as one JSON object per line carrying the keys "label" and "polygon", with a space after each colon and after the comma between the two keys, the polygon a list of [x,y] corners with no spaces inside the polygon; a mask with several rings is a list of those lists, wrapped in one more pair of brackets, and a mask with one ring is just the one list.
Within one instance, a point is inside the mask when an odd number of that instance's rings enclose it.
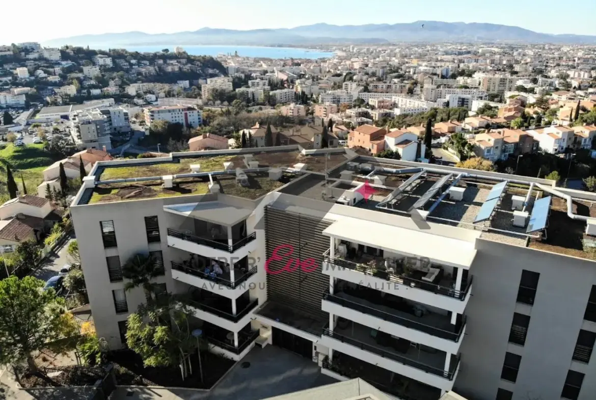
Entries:
{"label": "top-floor balcony of the left-hand stack with dark railing", "polygon": [[176,249],[215,259],[241,259],[256,249],[256,233],[253,232],[235,243],[228,239],[213,240],[194,235],[190,231],[167,230],[167,244]]}

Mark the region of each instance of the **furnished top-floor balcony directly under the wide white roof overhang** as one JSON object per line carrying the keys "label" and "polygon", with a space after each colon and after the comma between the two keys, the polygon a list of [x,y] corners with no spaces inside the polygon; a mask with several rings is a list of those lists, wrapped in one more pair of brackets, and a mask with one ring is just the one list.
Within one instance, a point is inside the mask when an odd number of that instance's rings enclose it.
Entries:
{"label": "furnished top-floor balcony directly under the wide white roof overhang", "polygon": [[436,274],[406,268],[397,262],[387,268],[383,259],[368,255],[356,256],[352,261],[331,257],[327,251],[323,255],[322,272],[345,281],[395,294],[408,300],[463,314],[470,298],[471,276],[462,281],[462,290],[456,290],[455,279],[446,277],[441,266]]}

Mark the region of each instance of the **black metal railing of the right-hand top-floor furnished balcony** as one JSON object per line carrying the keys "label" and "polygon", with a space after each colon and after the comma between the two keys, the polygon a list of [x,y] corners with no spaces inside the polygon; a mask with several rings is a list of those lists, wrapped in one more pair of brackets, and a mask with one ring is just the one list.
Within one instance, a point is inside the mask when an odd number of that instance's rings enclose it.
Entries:
{"label": "black metal railing of the right-hand top-floor furnished balcony", "polygon": [[467,283],[462,282],[462,286],[465,286],[463,290],[455,290],[451,287],[440,286],[439,284],[417,280],[415,278],[408,277],[406,275],[396,274],[395,272],[384,271],[382,269],[375,268],[364,264],[359,264],[352,261],[347,261],[340,258],[334,258],[328,255],[323,255],[323,259],[327,263],[331,263],[340,268],[351,269],[352,271],[361,272],[362,274],[373,275],[377,278],[387,280],[393,283],[402,284],[410,287],[417,287],[418,289],[427,290],[436,294],[442,294],[443,296],[455,297],[456,299],[464,300],[465,296],[470,292],[472,284],[472,277],[468,279]]}

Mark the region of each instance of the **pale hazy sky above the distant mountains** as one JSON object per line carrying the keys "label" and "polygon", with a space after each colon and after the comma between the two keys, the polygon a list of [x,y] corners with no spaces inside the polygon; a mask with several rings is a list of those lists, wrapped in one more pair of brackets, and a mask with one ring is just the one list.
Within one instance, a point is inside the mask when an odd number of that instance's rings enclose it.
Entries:
{"label": "pale hazy sky above the distant mountains", "polygon": [[[2,18],[0,44],[131,30],[172,33],[201,27],[259,29],[417,20],[485,22],[544,33],[596,35],[594,0],[568,4],[560,0],[27,0],[26,4],[23,13]],[[557,18],[558,12],[571,19]]]}

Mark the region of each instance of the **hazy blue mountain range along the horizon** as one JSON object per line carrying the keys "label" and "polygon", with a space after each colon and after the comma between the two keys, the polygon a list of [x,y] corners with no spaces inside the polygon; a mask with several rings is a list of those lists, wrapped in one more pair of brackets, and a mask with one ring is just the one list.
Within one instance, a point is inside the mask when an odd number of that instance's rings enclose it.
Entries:
{"label": "hazy blue mountain range along the horizon", "polygon": [[151,45],[259,45],[389,44],[398,42],[520,42],[596,44],[596,36],[550,35],[487,23],[415,21],[401,24],[313,24],[290,29],[232,30],[203,28],[193,32],[124,32],[52,39],[46,46],[125,47]]}

